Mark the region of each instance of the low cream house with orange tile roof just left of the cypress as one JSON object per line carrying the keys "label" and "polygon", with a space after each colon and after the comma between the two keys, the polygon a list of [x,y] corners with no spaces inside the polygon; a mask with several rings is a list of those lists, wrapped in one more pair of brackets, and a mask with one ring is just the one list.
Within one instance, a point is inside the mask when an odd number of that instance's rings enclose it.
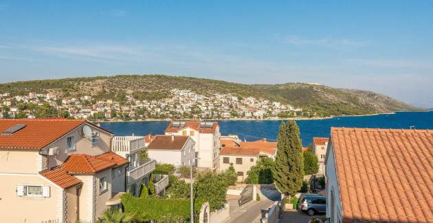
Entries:
{"label": "low cream house with orange tile roof just left of the cypress", "polygon": [[260,159],[268,157],[275,159],[277,146],[276,142],[269,142],[266,139],[243,142],[237,139],[224,137],[220,151],[219,170],[221,172],[233,165],[238,175],[238,182],[243,182],[247,178],[247,172],[252,166],[256,165]]}

